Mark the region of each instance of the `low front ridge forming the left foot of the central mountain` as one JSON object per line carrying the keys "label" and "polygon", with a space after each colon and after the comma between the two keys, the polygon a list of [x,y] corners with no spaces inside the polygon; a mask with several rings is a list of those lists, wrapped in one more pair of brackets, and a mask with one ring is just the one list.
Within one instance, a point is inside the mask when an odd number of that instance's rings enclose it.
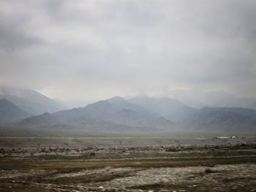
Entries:
{"label": "low front ridge forming the left foot of the central mountain", "polygon": [[101,119],[92,117],[83,112],[83,109],[65,110],[53,114],[42,114],[20,120],[15,126],[26,128],[61,128],[69,130],[83,129],[86,131],[131,131],[133,128],[124,125],[116,125]]}

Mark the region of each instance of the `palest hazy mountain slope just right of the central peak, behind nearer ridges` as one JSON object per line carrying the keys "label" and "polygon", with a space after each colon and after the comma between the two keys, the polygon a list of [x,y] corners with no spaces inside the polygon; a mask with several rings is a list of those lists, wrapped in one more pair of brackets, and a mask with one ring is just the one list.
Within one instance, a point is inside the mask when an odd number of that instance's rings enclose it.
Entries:
{"label": "palest hazy mountain slope just right of the central peak, behind nearer ridges", "polygon": [[129,99],[132,103],[139,104],[152,113],[158,114],[174,122],[181,121],[195,112],[195,109],[188,107],[176,99],[153,98],[148,96],[136,96]]}

